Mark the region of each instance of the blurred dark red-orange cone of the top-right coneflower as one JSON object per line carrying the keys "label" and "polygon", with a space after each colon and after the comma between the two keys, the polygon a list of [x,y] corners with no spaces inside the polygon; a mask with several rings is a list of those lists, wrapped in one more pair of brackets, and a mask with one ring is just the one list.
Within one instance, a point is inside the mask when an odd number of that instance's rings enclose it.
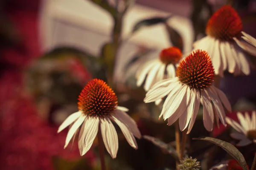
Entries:
{"label": "blurred dark red-orange cone of the top-right coneflower", "polygon": [[242,21],[236,10],[223,6],[212,14],[205,32],[218,40],[233,41],[233,37],[240,36],[242,29]]}

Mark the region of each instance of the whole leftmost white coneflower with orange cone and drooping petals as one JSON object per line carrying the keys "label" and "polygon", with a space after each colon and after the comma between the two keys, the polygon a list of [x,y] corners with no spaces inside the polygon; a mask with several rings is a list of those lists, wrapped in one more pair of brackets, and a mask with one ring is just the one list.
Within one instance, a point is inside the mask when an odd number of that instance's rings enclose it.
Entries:
{"label": "whole leftmost white coneflower with orange cone and drooping petals", "polygon": [[79,111],[71,114],[58,128],[58,133],[73,124],[67,133],[64,148],[67,147],[75,133],[79,131],[79,151],[83,156],[93,144],[93,141],[101,130],[102,139],[108,153],[116,158],[118,139],[115,127],[116,122],[122,130],[126,140],[135,149],[138,148],[134,138],[141,138],[136,122],[128,116],[127,108],[117,106],[117,97],[113,90],[102,80],[93,79],[84,87],[79,95]]}

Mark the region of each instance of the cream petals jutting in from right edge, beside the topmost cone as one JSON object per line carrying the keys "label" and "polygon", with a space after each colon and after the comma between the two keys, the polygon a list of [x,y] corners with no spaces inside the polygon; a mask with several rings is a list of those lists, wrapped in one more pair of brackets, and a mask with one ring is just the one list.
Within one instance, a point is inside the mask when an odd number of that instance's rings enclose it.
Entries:
{"label": "cream petals jutting in from right edge, beside the topmost cone", "polygon": [[256,39],[253,38],[252,36],[250,36],[249,34],[246,34],[244,31],[242,31],[242,34],[244,36],[242,36],[242,38],[249,42],[250,44],[246,43],[246,42],[242,42],[240,40],[238,40],[236,37],[234,37],[233,39],[236,41],[236,43],[245,51],[247,51],[247,53],[256,56]]}

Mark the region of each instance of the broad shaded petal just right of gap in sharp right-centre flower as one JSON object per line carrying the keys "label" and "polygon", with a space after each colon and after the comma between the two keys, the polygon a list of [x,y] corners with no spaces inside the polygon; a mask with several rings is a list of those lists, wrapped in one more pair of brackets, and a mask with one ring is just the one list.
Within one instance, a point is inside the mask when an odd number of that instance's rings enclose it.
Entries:
{"label": "broad shaded petal just right of gap in sharp right-centre flower", "polygon": [[208,131],[212,131],[213,128],[213,122],[214,122],[214,113],[212,110],[212,104],[209,100],[209,97],[205,93],[205,91],[201,91],[201,103],[203,105],[203,121],[204,121],[204,127]]}

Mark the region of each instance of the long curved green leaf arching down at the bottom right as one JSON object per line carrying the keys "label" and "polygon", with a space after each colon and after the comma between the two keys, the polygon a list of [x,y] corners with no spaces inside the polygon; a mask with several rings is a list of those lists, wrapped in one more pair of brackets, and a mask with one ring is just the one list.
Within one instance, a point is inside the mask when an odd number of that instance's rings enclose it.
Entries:
{"label": "long curved green leaf arching down at the bottom right", "polygon": [[202,137],[202,138],[193,138],[193,139],[212,142],[213,144],[216,144],[216,145],[222,147],[227,153],[229,153],[234,159],[236,159],[239,162],[239,164],[241,165],[243,170],[248,170],[247,163],[244,159],[244,156],[232,144],[222,141],[220,139],[215,139],[215,138],[211,138],[211,137]]}

